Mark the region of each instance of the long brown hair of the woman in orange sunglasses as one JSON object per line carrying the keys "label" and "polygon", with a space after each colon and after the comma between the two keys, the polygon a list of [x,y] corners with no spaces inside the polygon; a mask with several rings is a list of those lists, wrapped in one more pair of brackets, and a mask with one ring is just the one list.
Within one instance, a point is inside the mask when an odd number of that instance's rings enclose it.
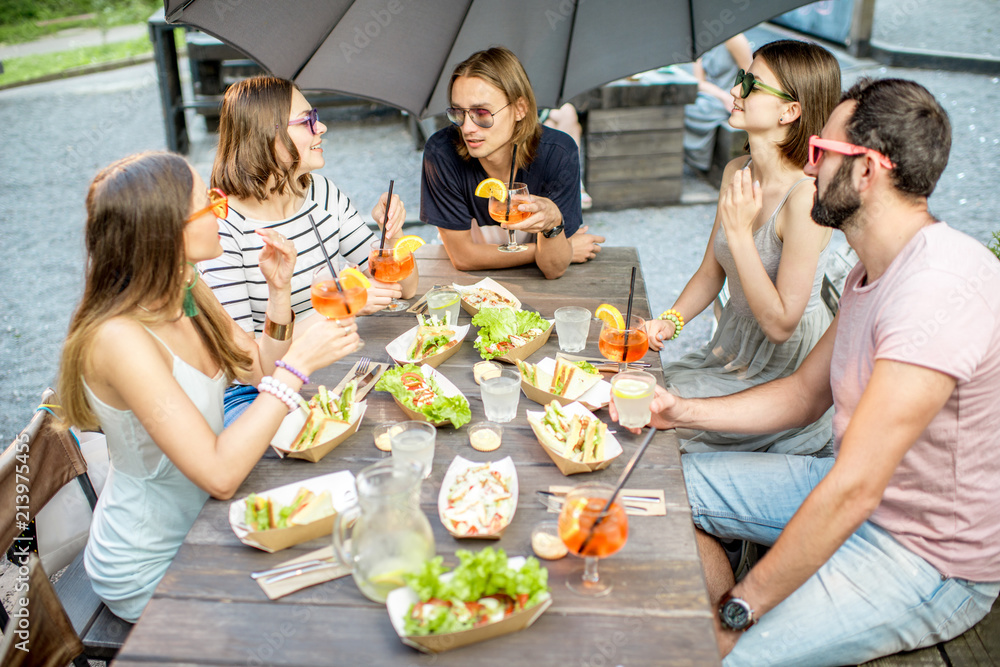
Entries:
{"label": "long brown hair of the woman in orange sunglasses", "polygon": [[[93,430],[98,419],[83,390],[90,346],[100,327],[126,316],[156,324],[181,308],[184,225],[191,209],[191,166],[173,153],[140,153],[102,169],[87,193],[86,283],[73,314],[59,368],[67,421]],[[252,361],[232,337],[231,321],[202,280],[192,290],[194,325],[212,359],[229,378],[245,379]],[[162,301],[155,311],[142,303]]]}

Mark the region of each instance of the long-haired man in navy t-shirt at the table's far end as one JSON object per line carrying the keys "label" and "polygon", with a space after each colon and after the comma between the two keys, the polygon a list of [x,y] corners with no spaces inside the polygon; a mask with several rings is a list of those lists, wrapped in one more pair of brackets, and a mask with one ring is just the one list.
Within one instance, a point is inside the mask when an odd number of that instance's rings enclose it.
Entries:
{"label": "long-haired man in navy t-shirt at the table's far end", "polygon": [[[535,95],[517,57],[503,47],[472,54],[455,68],[449,84],[454,124],[424,147],[420,219],[438,228],[452,264],[463,271],[535,263],[558,278],[570,262],[586,262],[604,238],[581,227],[580,157],[573,139],[538,122]],[[520,204],[525,220],[510,225],[524,252],[500,252],[505,228],[490,218],[488,199],[475,196],[486,178],[508,182],[517,145],[515,182],[531,202]]]}

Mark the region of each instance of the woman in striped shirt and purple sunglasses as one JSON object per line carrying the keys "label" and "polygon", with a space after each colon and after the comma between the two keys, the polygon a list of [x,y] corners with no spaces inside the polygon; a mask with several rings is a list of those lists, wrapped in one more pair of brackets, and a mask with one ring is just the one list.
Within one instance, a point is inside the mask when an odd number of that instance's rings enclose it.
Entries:
{"label": "woman in striped shirt and purple sunglasses", "polygon": [[[212,167],[212,187],[228,193],[229,215],[219,221],[223,254],[200,265],[205,282],[233,319],[247,332],[261,335],[267,312],[267,289],[258,256],[264,245],[256,234],[272,229],[295,246],[291,279],[292,310],[302,318],[312,313],[309,300],[313,272],[325,265],[310,217],[316,222],[331,258],[357,265],[369,278],[368,252],[375,236],[347,195],[329,179],[313,173],[326,164],[326,125],[295,84],[273,76],[257,76],[226,90],[219,118],[219,149]],[[372,209],[381,228],[385,193]],[[406,209],[393,195],[386,243],[403,234]],[[360,314],[388,305],[393,297],[413,296],[418,271],[400,283],[371,279],[368,302]],[[319,316],[300,319],[304,331]],[[252,386],[234,384],[226,391],[226,424],[256,398]]]}

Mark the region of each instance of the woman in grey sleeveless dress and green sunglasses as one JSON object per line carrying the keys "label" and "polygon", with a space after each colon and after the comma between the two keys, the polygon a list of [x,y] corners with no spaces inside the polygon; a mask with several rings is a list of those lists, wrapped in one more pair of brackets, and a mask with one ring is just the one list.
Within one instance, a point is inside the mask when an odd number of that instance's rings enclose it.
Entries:
{"label": "woman in grey sleeveless dress and green sunglasses", "polygon": [[[750,155],[723,175],[715,224],[701,266],[673,307],[646,323],[649,345],[680,335],[725,282],[729,302],[704,347],[663,369],[670,391],[723,396],[794,371],[830,324],[820,298],[830,230],[809,216],[816,191],[803,171],[809,136],[840,97],[840,66],[826,49],[793,40],[757,49],[730,90],[730,124],[747,131]],[[681,451],[755,450],[828,455],[830,416],[794,434],[748,436],[679,430]]]}

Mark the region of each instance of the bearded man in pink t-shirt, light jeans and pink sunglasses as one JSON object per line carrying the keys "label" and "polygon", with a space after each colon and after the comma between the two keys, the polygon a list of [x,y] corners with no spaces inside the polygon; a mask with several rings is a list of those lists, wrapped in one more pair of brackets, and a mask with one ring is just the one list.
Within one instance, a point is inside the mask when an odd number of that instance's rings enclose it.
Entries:
{"label": "bearded man in pink t-shirt, light jeans and pink sunglasses", "polygon": [[[851,88],[807,168],[813,218],[860,258],[837,319],[787,378],[701,400],[658,388],[657,428],[762,433],[835,409],[834,459],[682,458],[725,665],[929,646],[1000,591],[1000,262],[927,209],[950,146],[922,86]],[[715,537],[771,549],[733,585]]]}

